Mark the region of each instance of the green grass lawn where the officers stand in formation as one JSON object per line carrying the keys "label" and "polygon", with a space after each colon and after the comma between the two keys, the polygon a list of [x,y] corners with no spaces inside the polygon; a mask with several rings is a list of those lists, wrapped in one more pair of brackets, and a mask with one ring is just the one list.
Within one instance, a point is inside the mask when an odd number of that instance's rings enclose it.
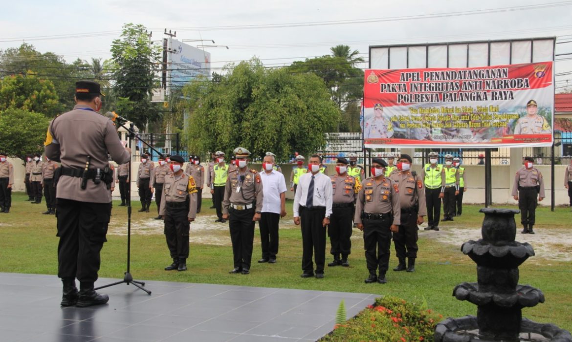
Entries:
{"label": "green grass lawn where the officers stand in formation", "polygon": [[[55,237],[55,218],[53,215],[42,215],[45,204],[33,205],[26,202],[23,193],[13,194],[13,206],[10,214],[0,214],[0,272],[15,273],[57,273],[57,244]],[[114,202],[112,222],[110,225],[124,225],[126,209]],[[156,216],[153,204],[151,213],[139,213],[138,201],[133,201],[132,227],[136,228],[149,222]],[[200,216],[214,215],[208,209],[211,202],[205,199]],[[443,231],[447,227],[479,230],[483,214],[478,210],[482,205],[466,205],[462,217],[454,222],[440,225]],[[439,240],[440,232],[424,232],[420,230],[419,257],[416,272],[388,271],[388,283],[364,284],[367,277],[366,260],[363,252],[362,234],[354,229],[352,238],[353,254],[349,257],[349,268],[333,267],[325,270],[325,278],[317,280],[301,279],[301,234],[299,228],[292,224],[292,202],[287,204],[289,216],[281,221],[280,251],[276,264],[257,264],[260,258],[260,235],[256,227],[255,246],[251,275],[229,275],[232,269],[232,249],[228,229],[208,232],[213,237],[226,241],[226,245],[197,244],[191,242],[191,257],[188,260],[187,272],[166,272],[163,268],[171,260],[166,248],[165,238],[160,233],[134,234],[132,236],[132,275],[138,280],[184,281],[189,283],[211,283],[228,285],[246,285],[255,287],[313,289],[322,291],[344,291],[359,293],[375,293],[392,295],[410,301],[427,301],[429,308],[444,316],[460,317],[467,314],[476,315],[476,307],[466,301],[458,301],[452,297],[453,288],[464,281],[476,281],[476,266],[468,256],[460,252],[460,245]],[[570,234],[572,214],[569,208],[541,207],[537,210],[535,230],[537,236],[543,232],[555,232],[567,237]],[[216,218],[216,217],[215,217]],[[212,218],[212,220],[215,220]],[[517,216],[517,222],[519,216]],[[221,225],[221,224],[219,224]],[[228,227],[228,224],[227,224]],[[191,224],[193,236],[193,224]],[[433,234],[433,235],[431,235]],[[517,234],[517,241],[522,236]],[[126,262],[125,236],[108,234],[108,242],[104,245],[101,258],[101,277],[122,279]],[[534,247],[534,242],[531,242]],[[567,244],[555,244],[569,253]],[[329,248],[329,241],[327,244]],[[326,262],[331,259],[327,255]],[[395,267],[396,257],[392,246],[390,268]],[[546,303],[535,308],[523,310],[523,316],[542,323],[554,323],[561,328],[572,330],[572,271],[570,261],[555,261],[532,257],[520,267],[520,284],[530,284],[541,289],[546,296]],[[54,276],[54,281],[58,281]],[[153,290],[150,288],[150,290]],[[54,304],[55,305],[55,304]]]}

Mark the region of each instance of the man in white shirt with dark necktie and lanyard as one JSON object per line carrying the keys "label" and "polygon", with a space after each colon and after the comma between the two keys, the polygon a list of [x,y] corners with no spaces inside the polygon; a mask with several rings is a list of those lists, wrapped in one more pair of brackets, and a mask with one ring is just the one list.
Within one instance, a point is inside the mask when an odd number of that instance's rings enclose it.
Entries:
{"label": "man in white shirt with dark necktie and lanyard", "polygon": [[309,172],[300,176],[294,197],[294,224],[302,225],[302,270],[300,277],[314,276],[312,251],[315,251],[316,278],[324,277],[325,232],[332,214],[332,181],[320,173],[322,158],[310,157]]}

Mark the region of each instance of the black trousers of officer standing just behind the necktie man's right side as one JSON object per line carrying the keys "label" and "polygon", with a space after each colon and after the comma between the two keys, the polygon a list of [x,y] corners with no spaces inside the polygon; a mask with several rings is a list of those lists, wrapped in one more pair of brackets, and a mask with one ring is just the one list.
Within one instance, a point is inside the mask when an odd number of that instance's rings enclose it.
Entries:
{"label": "black trousers of officer standing just behind the necktie man's right side", "polygon": [[329,252],[334,257],[345,259],[351,253],[352,242],[352,213],[353,204],[349,206],[332,208],[332,215],[329,218],[328,236],[332,248]]}

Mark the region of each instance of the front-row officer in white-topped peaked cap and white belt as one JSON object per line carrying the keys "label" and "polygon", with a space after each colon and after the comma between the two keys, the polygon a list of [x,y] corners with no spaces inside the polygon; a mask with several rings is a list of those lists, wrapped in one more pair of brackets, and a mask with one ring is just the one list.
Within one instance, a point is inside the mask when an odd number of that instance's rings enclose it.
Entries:
{"label": "front-row officer in white-topped peaked cap and white belt", "polygon": [[[260,220],[264,193],[260,174],[248,169],[250,152],[236,148],[237,169],[224,186],[223,219],[230,220],[234,268],[229,273],[248,275],[251,268],[252,244],[256,221]],[[216,166],[215,166],[216,167]]]}

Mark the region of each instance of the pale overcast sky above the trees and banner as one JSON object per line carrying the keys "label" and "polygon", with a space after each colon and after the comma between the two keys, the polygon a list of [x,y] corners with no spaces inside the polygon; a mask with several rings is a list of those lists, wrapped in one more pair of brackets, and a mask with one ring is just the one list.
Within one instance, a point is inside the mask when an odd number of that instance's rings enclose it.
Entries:
{"label": "pale overcast sky above the trees and banner", "polygon": [[[26,41],[68,62],[106,59],[121,26],[132,22],[148,27],[156,41],[168,29],[177,39],[227,45],[206,48],[213,70],[253,56],[267,66],[289,65],[329,54],[338,44],[367,61],[370,45],[557,37],[556,53],[566,54],[572,53],[572,42],[566,43],[572,41],[571,14],[572,1],[559,0],[5,1],[0,49]],[[557,60],[566,58],[572,54]],[[557,62],[555,73],[571,72],[571,62]],[[557,76],[557,87],[568,78],[572,87],[572,73]]]}

